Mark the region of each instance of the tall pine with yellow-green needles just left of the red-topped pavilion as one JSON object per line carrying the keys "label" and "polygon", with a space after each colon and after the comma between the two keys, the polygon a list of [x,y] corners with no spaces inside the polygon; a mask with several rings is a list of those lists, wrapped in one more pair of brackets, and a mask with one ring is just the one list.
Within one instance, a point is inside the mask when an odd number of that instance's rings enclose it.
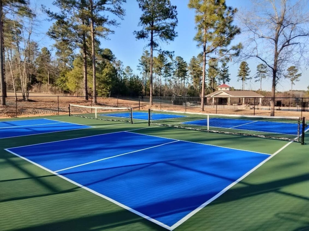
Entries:
{"label": "tall pine with yellow-green needles just left of the red-topped pavilion", "polygon": [[[194,40],[203,48],[203,75],[201,89],[201,111],[204,111],[206,57],[220,59],[225,55],[238,55],[241,44],[230,46],[235,35],[240,33],[233,25],[237,9],[227,7],[225,0],[190,0],[188,7],[195,9],[197,34]],[[216,57],[214,57],[216,56]]]}

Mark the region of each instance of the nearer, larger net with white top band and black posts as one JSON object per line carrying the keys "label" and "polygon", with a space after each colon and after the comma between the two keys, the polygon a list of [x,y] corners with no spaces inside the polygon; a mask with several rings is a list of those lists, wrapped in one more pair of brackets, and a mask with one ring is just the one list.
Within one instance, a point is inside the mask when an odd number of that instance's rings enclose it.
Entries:
{"label": "nearer, larger net with white top band and black posts", "polygon": [[[149,110],[149,125],[300,141],[305,118]],[[303,142],[303,141],[302,141]]]}

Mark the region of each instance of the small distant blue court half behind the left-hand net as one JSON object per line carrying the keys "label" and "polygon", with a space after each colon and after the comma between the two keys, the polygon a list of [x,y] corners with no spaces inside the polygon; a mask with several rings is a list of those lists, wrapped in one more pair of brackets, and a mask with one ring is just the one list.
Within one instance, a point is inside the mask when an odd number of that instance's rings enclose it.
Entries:
{"label": "small distant blue court half behind the left-hand net", "polygon": [[[102,116],[112,116],[112,117],[121,117],[121,118],[130,118],[130,113],[112,113],[112,114],[101,114]],[[152,120],[164,120],[172,118],[186,117],[185,115],[168,115],[168,114],[152,114]],[[133,119],[138,120],[148,120],[148,112],[133,112]]]}

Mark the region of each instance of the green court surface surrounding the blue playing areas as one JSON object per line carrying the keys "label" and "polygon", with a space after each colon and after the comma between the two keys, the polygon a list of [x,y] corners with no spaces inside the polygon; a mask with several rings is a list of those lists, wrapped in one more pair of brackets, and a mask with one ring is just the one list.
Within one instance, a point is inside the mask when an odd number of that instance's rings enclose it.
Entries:
{"label": "green court surface surrounding the blue playing areas", "polygon": [[[4,150],[129,130],[273,154],[273,158],[174,230],[309,230],[309,132],[301,145],[284,140],[149,127],[140,120],[129,124],[69,116],[40,118],[93,128],[0,139],[0,230],[167,230]],[[33,118],[0,121],[25,119]]]}

